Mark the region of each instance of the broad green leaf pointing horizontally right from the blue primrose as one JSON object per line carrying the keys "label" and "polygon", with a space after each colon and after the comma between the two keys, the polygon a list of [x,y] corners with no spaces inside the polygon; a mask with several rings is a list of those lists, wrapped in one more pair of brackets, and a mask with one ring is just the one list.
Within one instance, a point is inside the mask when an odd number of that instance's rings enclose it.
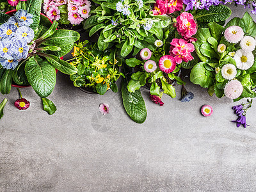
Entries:
{"label": "broad green leaf pointing horizontally right from the blue primrose", "polygon": [[55,45],[60,47],[63,44],[73,44],[79,40],[80,34],[76,31],[59,29],[56,30],[52,36],[46,38],[42,44],[44,45]]}

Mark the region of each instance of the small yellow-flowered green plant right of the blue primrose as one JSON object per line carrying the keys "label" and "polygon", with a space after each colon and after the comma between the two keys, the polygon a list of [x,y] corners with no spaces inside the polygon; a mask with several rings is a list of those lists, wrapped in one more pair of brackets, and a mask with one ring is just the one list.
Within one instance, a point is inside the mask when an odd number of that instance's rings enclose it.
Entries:
{"label": "small yellow-flowered green plant right of the blue primrose", "polygon": [[81,88],[86,93],[104,95],[111,89],[117,92],[116,81],[123,74],[119,71],[118,61],[109,60],[113,51],[99,51],[97,45],[88,40],[75,44],[72,65],[77,68],[77,74],[72,74],[70,79],[74,86]]}

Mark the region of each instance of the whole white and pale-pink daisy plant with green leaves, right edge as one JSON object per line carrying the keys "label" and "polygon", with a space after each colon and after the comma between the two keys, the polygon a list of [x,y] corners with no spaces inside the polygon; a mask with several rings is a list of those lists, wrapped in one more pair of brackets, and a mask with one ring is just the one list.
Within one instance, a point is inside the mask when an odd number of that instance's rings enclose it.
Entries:
{"label": "whole white and pale-pink daisy plant with green leaves, right edge", "polygon": [[239,100],[256,97],[256,23],[245,13],[225,28],[210,22],[196,33],[195,50],[200,62],[192,68],[190,80],[208,88],[209,95]]}

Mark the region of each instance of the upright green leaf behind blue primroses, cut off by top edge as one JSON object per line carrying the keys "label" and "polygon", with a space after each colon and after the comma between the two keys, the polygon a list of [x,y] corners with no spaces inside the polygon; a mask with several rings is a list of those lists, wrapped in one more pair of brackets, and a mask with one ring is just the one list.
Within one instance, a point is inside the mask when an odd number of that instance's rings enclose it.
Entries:
{"label": "upright green leaf behind blue primroses, cut off by top edge", "polygon": [[34,31],[38,28],[40,22],[40,13],[41,13],[42,0],[27,0],[20,1],[17,10],[27,10],[28,13],[33,15],[33,23],[29,26]]}

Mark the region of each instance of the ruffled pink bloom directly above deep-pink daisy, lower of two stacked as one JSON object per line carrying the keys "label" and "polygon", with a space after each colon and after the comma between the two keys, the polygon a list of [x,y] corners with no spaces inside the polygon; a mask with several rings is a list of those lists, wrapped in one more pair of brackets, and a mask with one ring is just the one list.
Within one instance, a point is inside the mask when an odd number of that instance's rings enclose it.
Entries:
{"label": "ruffled pink bloom directly above deep-pink daisy, lower of two stacked", "polygon": [[170,55],[174,57],[176,63],[181,63],[182,61],[188,62],[193,60],[193,56],[191,56],[191,52],[195,51],[195,46],[191,43],[186,42],[182,38],[173,38],[170,43]]}

